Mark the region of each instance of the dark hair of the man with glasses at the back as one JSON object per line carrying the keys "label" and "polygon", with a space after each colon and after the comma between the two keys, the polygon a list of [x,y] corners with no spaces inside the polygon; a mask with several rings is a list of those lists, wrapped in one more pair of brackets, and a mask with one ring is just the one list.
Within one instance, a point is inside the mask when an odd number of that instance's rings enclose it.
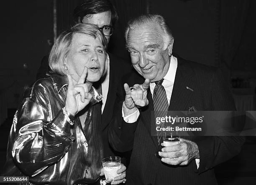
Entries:
{"label": "dark hair of the man with glasses at the back", "polygon": [[114,27],[118,21],[118,14],[109,0],[84,0],[81,5],[74,9],[74,22],[76,24],[82,23],[84,16],[90,18],[93,14],[107,11],[111,12],[111,24]]}

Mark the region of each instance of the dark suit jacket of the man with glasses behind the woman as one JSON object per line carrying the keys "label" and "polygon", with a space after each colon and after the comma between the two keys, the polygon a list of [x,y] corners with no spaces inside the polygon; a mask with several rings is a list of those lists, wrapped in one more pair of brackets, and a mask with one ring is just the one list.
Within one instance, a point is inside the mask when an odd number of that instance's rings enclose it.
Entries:
{"label": "dark suit jacket of the man with glasses behind the woman", "polygon": [[[108,97],[106,97],[107,100],[105,102],[105,107],[102,113],[102,139],[104,145],[104,154],[105,157],[118,155],[121,157],[129,158],[129,153],[118,153],[111,148],[110,144],[108,143],[108,125],[113,114],[113,106],[116,99],[116,90],[118,88],[118,85],[120,84],[120,79],[123,75],[131,72],[132,67],[128,64],[128,62],[125,62],[120,57],[117,57],[111,53],[108,53],[108,55],[110,59]],[[37,79],[47,77],[46,72],[49,72],[50,70],[48,58],[49,55],[43,57],[41,61],[41,66],[39,67],[36,74]],[[123,161],[123,163],[126,163],[126,161]]]}

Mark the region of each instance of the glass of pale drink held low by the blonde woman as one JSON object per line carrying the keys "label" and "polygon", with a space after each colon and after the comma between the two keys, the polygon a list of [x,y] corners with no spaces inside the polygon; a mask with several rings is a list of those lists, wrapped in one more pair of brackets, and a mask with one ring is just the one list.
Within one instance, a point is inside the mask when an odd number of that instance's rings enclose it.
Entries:
{"label": "glass of pale drink held low by the blonde woman", "polygon": [[104,175],[107,180],[113,181],[116,176],[121,174],[117,173],[117,170],[121,168],[121,158],[118,156],[112,156],[101,160]]}

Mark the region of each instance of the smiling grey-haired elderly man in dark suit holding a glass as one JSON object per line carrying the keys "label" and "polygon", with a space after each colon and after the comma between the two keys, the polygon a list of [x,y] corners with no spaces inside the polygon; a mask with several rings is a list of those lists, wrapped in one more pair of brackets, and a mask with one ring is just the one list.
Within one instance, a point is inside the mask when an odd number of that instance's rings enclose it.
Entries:
{"label": "smiling grey-haired elderly man in dark suit holding a glass", "polygon": [[217,184],[213,167],[238,154],[244,138],[183,136],[161,148],[161,135],[151,134],[151,114],[235,110],[219,70],[174,55],[174,38],[161,15],[131,20],[125,39],[138,74],[122,79],[109,139],[115,150],[133,149],[126,183]]}

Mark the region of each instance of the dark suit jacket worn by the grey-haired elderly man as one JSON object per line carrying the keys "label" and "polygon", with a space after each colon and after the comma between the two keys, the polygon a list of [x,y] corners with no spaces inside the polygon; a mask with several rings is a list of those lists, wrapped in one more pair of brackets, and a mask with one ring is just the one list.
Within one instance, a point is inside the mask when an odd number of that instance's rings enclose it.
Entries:
{"label": "dark suit jacket worn by the grey-haired elderly man", "polygon": [[[169,110],[187,111],[191,106],[196,107],[197,110],[235,110],[232,95],[217,68],[177,58],[178,67]],[[154,108],[149,88],[147,96],[149,104],[140,110],[137,122],[126,123],[122,118],[122,102],[125,97],[123,83],[127,82],[129,86],[133,86],[143,81],[144,79],[137,73],[123,77],[118,90],[115,113],[110,123],[109,139],[113,148],[121,152],[133,149],[126,174],[126,184],[217,184],[213,167],[238,154],[244,138],[187,136],[186,139],[198,145],[199,169],[197,170],[195,159],[186,166],[161,163],[161,158],[158,156],[161,148],[158,146],[156,136],[151,136],[151,111]]]}

